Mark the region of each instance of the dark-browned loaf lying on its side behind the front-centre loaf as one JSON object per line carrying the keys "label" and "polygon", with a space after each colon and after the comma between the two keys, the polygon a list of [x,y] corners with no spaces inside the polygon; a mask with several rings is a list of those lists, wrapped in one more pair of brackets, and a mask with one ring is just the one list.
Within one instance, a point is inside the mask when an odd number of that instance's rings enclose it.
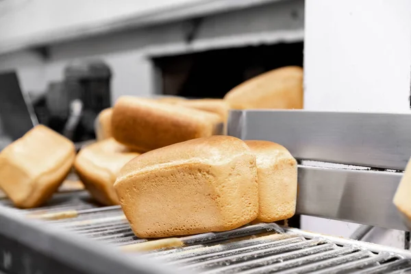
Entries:
{"label": "dark-browned loaf lying on its side behind the front-centre loaf", "polygon": [[112,132],[127,147],[150,151],[221,132],[218,115],[150,99],[121,97],[114,105]]}

